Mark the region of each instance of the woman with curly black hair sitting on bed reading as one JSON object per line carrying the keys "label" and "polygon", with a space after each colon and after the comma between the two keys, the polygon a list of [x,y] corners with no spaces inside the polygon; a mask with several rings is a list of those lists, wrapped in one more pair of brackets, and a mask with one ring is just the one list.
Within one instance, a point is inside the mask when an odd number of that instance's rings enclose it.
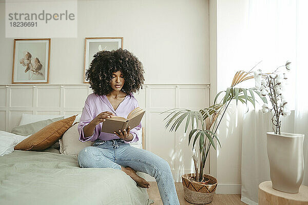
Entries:
{"label": "woman with curly black hair sitting on bed reading", "polygon": [[127,50],[100,51],[94,55],[86,72],[90,94],[78,125],[79,140],[95,141],[78,155],[81,168],[113,168],[122,170],[137,185],[149,188],[149,183],[136,171],[155,177],[163,204],[180,204],[170,166],[163,158],[143,149],[131,147],[139,139],[139,126],[115,130],[114,134],[101,132],[102,123],[112,116],[127,117],[139,107],[132,95],[143,85],[143,66],[139,59]]}

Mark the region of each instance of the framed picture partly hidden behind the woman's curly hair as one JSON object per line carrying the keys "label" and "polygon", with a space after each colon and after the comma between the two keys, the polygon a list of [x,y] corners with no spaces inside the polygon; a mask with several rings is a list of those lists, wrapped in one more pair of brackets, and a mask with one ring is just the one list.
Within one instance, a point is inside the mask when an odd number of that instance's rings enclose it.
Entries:
{"label": "framed picture partly hidden behind the woman's curly hair", "polygon": [[123,37],[93,37],[85,38],[85,59],[84,59],[84,83],[86,80],[86,71],[93,60],[93,55],[101,50],[112,51],[123,49]]}

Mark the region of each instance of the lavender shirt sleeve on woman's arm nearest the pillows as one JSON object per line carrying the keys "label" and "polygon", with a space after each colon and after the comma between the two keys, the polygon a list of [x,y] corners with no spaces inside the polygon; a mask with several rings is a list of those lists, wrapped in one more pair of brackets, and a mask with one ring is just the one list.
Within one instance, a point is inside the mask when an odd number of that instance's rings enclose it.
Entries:
{"label": "lavender shirt sleeve on woman's arm nearest the pillows", "polygon": [[[86,99],[85,101],[85,107],[83,108],[82,110],[82,114],[81,114],[81,117],[80,117],[80,122],[78,124],[78,133],[79,133],[79,140],[82,141],[82,142],[86,142],[86,141],[94,141],[96,140],[95,139],[95,129],[94,129],[94,132],[93,132],[93,135],[92,136],[85,136],[84,135],[84,127],[86,125],[88,125],[92,119],[94,119],[93,115],[91,114],[91,110],[90,110],[90,107],[88,105],[88,98]],[[97,137],[96,137],[97,138]]]}

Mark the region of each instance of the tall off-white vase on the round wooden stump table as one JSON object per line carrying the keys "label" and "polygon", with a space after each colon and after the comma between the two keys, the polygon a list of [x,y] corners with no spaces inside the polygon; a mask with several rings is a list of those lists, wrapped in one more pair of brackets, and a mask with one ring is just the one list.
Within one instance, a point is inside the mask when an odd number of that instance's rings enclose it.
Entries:
{"label": "tall off-white vase on the round wooden stump table", "polygon": [[267,156],[273,189],[298,193],[304,174],[303,134],[267,132]]}

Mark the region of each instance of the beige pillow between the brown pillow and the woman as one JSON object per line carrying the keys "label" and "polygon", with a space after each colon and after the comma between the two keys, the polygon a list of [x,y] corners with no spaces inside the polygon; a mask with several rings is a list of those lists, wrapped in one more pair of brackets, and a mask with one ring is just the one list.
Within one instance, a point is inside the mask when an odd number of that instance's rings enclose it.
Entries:
{"label": "beige pillow between the brown pillow and the woman", "polygon": [[70,127],[59,139],[60,153],[78,157],[78,153],[85,147],[92,146],[94,141],[82,142],[79,140],[78,122]]}

